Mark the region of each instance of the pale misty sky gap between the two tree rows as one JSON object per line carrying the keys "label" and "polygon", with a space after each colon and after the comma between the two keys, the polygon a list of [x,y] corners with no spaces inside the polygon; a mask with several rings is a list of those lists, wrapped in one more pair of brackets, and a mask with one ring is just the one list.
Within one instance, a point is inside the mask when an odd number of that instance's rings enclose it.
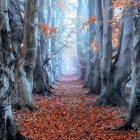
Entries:
{"label": "pale misty sky gap between the two tree rows", "polygon": [[[76,72],[75,59],[77,59],[77,44],[76,44],[76,19],[77,19],[77,0],[67,1],[70,4],[66,4],[64,8],[64,25],[67,25],[67,29],[64,31],[63,36],[67,38],[69,33],[66,48],[63,50],[62,55],[62,70],[63,73],[72,74]],[[62,38],[63,38],[62,36]]]}

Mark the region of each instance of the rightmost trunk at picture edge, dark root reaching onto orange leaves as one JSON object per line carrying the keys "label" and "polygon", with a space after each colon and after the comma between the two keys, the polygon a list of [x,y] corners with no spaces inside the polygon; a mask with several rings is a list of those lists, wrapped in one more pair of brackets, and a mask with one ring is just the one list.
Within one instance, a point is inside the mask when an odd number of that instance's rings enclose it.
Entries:
{"label": "rightmost trunk at picture edge, dark root reaching onto orange leaves", "polygon": [[140,124],[140,14],[134,19],[133,28],[133,63],[132,63],[132,99],[128,120],[115,130],[132,129],[132,123],[135,122],[135,130]]}

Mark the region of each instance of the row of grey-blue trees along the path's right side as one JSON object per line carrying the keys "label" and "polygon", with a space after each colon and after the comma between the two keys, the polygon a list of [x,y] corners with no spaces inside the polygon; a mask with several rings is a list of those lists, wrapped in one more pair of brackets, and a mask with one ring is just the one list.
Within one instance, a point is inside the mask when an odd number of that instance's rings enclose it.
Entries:
{"label": "row of grey-blue trees along the path's right side", "polygon": [[[81,1],[78,2],[80,6]],[[87,48],[84,54],[86,72],[81,72],[84,75],[84,87],[90,88],[88,94],[99,95],[96,102],[88,106],[127,105],[125,88],[131,80],[129,118],[117,129],[131,128],[132,122],[138,120],[136,122],[138,124],[140,117],[139,1],[88,0],[86,2],[89,14],[82,27],[84,29],[88,26],[86,34],[88,45],[86,44],[85,48],[91,46],[94,50]]]}

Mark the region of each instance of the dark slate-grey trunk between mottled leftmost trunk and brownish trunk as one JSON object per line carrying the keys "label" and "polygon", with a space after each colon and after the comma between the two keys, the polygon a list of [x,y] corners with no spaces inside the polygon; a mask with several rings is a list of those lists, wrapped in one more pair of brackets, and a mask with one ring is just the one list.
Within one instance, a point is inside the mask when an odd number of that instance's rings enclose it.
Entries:
{"label": "dark slate-grey trunk between mottled leftmost trunk and brownish trunk", "polygon": [[[15,81],[18,81],[18,46],[22,44],[23,41],[23,25],[21,22],[21,13],[20,13],[20,6],[18,0],[9,0],[8,2],[8,9],[9,9],[9,23],[11,29],[11,40],[12,45],[14,47],[14,56],[15,56]],[[12,105],[19,104],[18,100],[18,82],[15,82],[14,86],[15,90],[12,93]]]}

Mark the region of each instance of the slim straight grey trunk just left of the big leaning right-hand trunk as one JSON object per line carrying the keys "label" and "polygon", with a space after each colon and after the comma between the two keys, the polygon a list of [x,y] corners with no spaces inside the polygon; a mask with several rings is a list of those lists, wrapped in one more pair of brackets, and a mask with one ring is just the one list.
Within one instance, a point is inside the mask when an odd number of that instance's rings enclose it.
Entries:
{"label": "slim straight grey trunk just left of the big leaning right-hand trunk", "polygon": [[113,19],[113,10],[111,6],[112,1],[105,2],[106,14],[104,19],[103,51],[101,58],[101,82],[102,82],[101,94],[104,94],[106,90],[107,78],[112,64],[112,27],[110,20]]}

